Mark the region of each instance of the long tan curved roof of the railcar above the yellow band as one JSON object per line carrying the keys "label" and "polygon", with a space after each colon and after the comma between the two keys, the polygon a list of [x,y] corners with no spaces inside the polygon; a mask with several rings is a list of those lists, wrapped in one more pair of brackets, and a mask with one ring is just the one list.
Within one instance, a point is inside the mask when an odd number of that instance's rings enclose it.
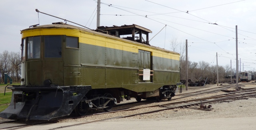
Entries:
{"label": "long tan curved roof of the railcar above the yellow band", "polygon": [[[110,37],[112,39],[119,39],[119,40],[122,39],[122,38],[119,38],[119,37],[114,37],[114,36],[111,36],[111,35],[108,35],[108,34],[99,33],[99,32],[94,31],[94,30],[84,29],[82,27],[77,27],[77,26],[69,25],[69,24],[62,23],[62,22],[52,23],[52,24],[48,24],[48,25],[40,25],[40,26],[36,26],[36,27],[30,27],[30,28],[27,28],[27,29],[23,29],[21,31],[21,33],[24,32],[24,31],[29,31],[29,30],[34,30],[34,29],[51,29],[51,28],[77,29],[77,30],[84,31],[84,32],[95,33],[95,34],[98,34],[98,35],[104,35],[104,36]],[[174,52],[174,51],[171,51],[171,50],[166,50],[166,49],[163,49],[163,48],[160,48],[160,47],[155,47],[155,46],[150,46],[150,45],[146,45],[146,44],[142,44],[142,43],[137,43],[135,41],[130,41],[130,40],[126,40],[126,39],[122,39],[122,40],[126,41],[126,42],[130,42],[130,43],[134,43],[134,44],[137,44],[137,45],[144,45],[146,47],[161,50],[161,51],[164,51],[164,52],[171,52],[171,53],[174,53],[174,54],[179,54],[178,52]]]}

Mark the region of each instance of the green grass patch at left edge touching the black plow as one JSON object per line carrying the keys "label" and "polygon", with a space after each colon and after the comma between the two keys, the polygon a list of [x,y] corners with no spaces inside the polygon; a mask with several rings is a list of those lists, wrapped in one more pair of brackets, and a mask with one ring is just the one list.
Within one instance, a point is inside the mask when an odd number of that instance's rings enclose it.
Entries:
{"label": "green grass patch at left edge touching the black plow", "polygon": [[12,92],[7,92],[5,93],[0,93],[0,112],[4,111],[4,109],[6,109],[12,99]]}

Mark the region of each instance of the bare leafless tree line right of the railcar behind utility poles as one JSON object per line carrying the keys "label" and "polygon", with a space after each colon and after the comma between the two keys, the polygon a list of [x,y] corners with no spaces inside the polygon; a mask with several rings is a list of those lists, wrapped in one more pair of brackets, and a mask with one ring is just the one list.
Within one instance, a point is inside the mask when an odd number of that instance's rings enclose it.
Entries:
{"label": "bare leafless tree line right of the railcar behind utility poles", "polygon": [[[178,41],[178,37],[172,37],[170,40],[171,50],[180,53],[180,79],[186,79],[186,43]],[[231,73],[232,72],[232,73]],[[254,75],[254,72],[248,71]],[[236,68],[218,65],[219,82],[230,82],[230,76],[236,75]],[[238,75],[239,76],[239,75]],[[217,82],[217,65],[211,65],[205,61],[192,62],[188,60],[188,79],[192,81],[208,80],[210,83]],[[236,80],[235,78],[232,81]]]}

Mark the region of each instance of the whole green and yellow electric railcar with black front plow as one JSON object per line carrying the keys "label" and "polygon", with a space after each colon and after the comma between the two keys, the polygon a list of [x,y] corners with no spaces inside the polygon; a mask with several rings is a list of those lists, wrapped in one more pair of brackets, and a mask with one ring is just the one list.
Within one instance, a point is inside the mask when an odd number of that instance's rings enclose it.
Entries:
{"label": "whole green and yellow electric railcar with black front plow", "polygon": [[50,120],[110,111],[123,97],[171,99],[180,54],[150,46],[148,33],[135,24],[89,30],[62,22],[22,30],[21,85],[8,87],[12,101],[0,117]]}

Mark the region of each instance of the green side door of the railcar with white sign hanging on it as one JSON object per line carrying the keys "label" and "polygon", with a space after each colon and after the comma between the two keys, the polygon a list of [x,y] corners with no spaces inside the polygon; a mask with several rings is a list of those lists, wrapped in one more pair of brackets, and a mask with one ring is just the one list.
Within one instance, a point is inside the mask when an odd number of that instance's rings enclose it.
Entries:
{"label": "green side door of the railcar with white sign hanging on it", "polygon": [[[138,62],[139,62],[139,83],[146,83],[146,82],[152,82],[152,76],[150,76],[150,70],[152,69],[152,56],[151,52],[146,50],[139,50],[138,54]],[[143,72],[146,70],[149,70],[149,75],[143,74]],[[145,78],[145,76],[149,76],[148,78]],[[144,77],[144,80],[143,80]]]}

